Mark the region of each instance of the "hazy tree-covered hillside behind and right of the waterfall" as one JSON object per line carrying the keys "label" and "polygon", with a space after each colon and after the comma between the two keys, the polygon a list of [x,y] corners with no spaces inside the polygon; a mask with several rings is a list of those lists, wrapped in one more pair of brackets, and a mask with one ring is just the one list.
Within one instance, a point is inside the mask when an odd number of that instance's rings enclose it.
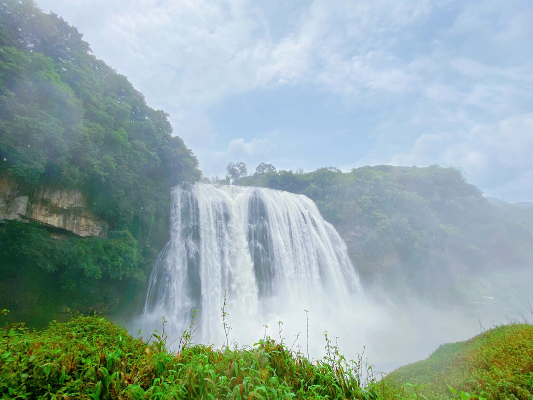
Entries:
{"label": "hazy tree-covered hillside behind and right of the waterfall", "polygon": [[491,295],[480,273],[533,266],[533,207],[491,204],[454,168],[270,168],[235,183],[310,197],[343,237],[364,283],[399,298],[474,301]]}

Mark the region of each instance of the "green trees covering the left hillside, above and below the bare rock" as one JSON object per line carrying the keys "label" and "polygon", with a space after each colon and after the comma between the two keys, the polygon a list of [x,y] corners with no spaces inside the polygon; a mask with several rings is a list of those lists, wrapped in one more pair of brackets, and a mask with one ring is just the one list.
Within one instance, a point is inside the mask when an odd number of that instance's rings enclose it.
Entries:
{"label": "green trees covering the left hillside, above and below the bare rock", "polygon": [[[58,241],[28,227],[22,249],[3,249],[11,261],[0,261],[2,276],[31,264],[72,290],[80,279],[101,282],[93,291],[111,279],[119,297],[120,281],[142,281],[168,239],[170,188],[200,178],[168,116],[32,0],[0,2],[0,174],[29,188],[82,190],[110,231]],[[21,239],[19,228],[5,225],[3,235]]]}

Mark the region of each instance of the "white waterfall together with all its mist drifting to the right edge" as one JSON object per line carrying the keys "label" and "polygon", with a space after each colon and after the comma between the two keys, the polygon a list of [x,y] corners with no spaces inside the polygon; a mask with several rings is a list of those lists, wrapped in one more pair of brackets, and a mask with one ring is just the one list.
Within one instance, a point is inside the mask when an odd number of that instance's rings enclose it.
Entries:
{"label": "white waterfall together with all its mist drifting to the right edge", "polygon": [[[270,337],[321,359],[327,353],[327,335],[329,346],[338,346],[346,358],[371,366],[369,376],[381,377],[426,358],[443,343],[531,317],[528,301],[533,277],[526,266],[478,268],[477,273],[462,275],[448,271],[447,276],[441,271],[442,282],[460,284],[453,290],[443,285],[439,293],[435,282],[414,291],[413,284],[421,284],[418,280],[397,279],[393,291],[379,281],[360,286],[357,264],[348,261],[346,245],[305,196],[202,184],[175,188],[173,198],[171,241],[152,271],[144,313],[128,326],[132,332],[141,329],[148,338],[163,329],[165,318],[165,333],[174,348],[182,332],[190,330],[193,342],[215,347],[223,348],[228,342],[237,348],[250,346]],[[289,208],[282,211],[285,202]],[[311,220],[287,216],[278,221],[292,212],[291,202],[301,202],[298,213],[312,213]],[[317,224],[325,230],[317,231],[316,242],[303,243],[301,248],[298,239],[293,242]],[[324,236],[328,230],[333,235],[330,239]],[[324,239],[336,243],[337,255],[317,253],[326,245]],[[309,259],[307,253],[315,255]],[[356,273],[347,281],[352,282],[352,290],[325,275],[343,262],[348,264],[342,268]],[[314,273],[308,270],[312,265],[318,268]],[[313,280],[318,271],[314,279],[320,279]],[[228,332],[224,326],[230,328]]]}

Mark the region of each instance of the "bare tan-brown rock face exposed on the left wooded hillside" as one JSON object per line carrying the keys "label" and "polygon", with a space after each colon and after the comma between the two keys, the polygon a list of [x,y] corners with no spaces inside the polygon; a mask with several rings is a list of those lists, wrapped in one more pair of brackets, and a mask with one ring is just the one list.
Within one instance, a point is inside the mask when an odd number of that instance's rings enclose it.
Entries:
{"label": "bare tan-brown rock face exposed on the left wooded hillside", "polygon": [[3,219],[34,220],[79,236],[107,234],[106,222],[88,211],[86,196],[81,191],[21,188],[5,175],[0,176],[0,220]]}

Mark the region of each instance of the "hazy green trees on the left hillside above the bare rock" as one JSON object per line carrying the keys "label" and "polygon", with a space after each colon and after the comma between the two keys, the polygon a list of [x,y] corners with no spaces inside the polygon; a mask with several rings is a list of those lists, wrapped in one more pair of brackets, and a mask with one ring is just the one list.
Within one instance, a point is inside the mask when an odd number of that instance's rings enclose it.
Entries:
{"label": "hazy green trees on the left hillside above the bare rock", "polygon": [[200,177],[167,115],[57,15],[11,0],[0,17],[0,172],[81,188],[112,230],[150,239],[169,187]]}

